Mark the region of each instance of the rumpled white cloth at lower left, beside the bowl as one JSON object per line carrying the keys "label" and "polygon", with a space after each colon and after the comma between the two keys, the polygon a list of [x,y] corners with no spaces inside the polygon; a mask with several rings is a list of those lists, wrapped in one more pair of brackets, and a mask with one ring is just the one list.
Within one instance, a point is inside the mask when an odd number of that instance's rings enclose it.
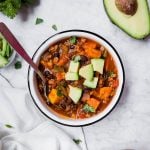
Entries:
{"label": "rumpled white cloth at lower left, beside the bowl", "polygon": [[26,90],[1,87],[0,102],[0,150],[86,149],[81,128],[57,127],[37,111]]}

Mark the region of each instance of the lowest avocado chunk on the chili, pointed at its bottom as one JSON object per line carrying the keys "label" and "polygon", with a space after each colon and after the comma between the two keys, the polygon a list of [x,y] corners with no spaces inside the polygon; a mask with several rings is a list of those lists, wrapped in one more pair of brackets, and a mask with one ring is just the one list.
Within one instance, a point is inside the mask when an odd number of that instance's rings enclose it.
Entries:
{"label": "lowest avocado chunk on the chili, pointed at its bottom", "polygon": [[82,89],[77,88],[77,87],[72,87],[71,85],[69,85],[69,97],[73,100],[73,102],[75,104],[78,103],[78,101],[81,98],[82,95]]}

